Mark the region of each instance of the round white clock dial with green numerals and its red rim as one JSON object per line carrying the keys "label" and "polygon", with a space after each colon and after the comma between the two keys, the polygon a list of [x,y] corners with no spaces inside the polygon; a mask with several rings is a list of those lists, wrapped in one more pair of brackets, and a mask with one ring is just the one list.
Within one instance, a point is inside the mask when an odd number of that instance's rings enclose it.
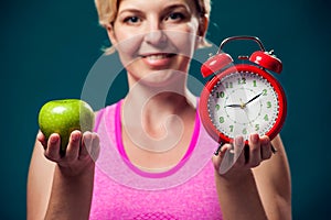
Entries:
{"label": "round white clock dial with green numerals and its red rim", "polygon": [[286,102],[279,84],[260,74],[259,68],[234,69],[209,85],[205,114],[207,127],[213,129],[207,130],[226,142],[237,135],[248,140],[250,133],[274,138],[285,119]]}

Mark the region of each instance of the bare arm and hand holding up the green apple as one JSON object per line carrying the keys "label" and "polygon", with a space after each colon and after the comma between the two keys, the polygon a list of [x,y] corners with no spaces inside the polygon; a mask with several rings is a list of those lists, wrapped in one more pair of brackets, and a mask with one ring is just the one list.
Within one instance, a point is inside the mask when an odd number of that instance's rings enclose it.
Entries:
{"label": "bare arm and hand holding up the green apple", "polygon": [[98,151],[97,135],[86,132],[82,138],[74,131],[61,157],[60,136],[52,134],[45,143],[39,133],[28,178],[28,219],[88,219],[95,166],[92,150]]}

